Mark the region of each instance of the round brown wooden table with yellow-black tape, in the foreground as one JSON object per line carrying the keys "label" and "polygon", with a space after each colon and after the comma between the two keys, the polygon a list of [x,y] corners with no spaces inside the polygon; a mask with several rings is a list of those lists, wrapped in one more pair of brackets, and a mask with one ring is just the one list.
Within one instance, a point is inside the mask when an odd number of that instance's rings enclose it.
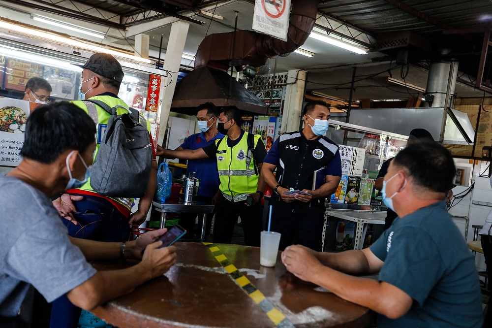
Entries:
{"label": "round brown wooden table with yellow-black tape, in the foreground", "polygon": [[[177,264],[165,275],[92,311],[121,327],[276,327],[202,243],[176,243]],[[260,265],[260,249],[216,244],[220,251],[295,327],[366,327],[369,309],[286,271]],[[135,262],[92,262],[98,270]]]}

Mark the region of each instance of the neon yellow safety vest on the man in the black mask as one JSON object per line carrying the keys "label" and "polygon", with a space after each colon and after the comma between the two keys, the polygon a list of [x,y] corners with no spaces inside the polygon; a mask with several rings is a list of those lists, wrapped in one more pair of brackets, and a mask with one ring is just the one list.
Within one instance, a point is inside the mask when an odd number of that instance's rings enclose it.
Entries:
{"label": "neon yellow safety vest on the man in the black mask", "polygon": [[[228,137],[225,136],[215,154],[220,179],[219,189],[229,200],[232,197],[244,197],[240,195],[255,193],[258,187],[258,175],[254,174],[254,165],[251,161],[252,154],[247,150],[247,134],[245,132],[238,144],[232,148],[227,145]],[[255,146],[259,138],[259,135],[255,136]],[[246,197],[238,200],[244,199]]]}

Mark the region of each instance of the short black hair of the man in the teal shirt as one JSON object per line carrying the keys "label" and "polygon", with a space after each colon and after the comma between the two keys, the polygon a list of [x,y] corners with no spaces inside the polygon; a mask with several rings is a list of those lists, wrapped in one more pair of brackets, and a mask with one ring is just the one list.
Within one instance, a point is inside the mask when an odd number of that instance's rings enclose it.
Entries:
{"label": "short black hair of the man in the teal shirt", "polygon": [[422,140],[408,145],[393,160],[403,168],[416,185],[433,192],[447,193],[456,176],[451,153],[441,144]]}

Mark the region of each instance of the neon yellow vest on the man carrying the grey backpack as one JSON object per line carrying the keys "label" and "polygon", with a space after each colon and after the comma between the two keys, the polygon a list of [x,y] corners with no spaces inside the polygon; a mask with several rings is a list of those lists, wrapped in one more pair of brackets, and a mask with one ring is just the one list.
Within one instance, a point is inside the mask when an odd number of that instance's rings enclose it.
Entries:
{"label": "neon yellow vest on the man carrying the grey backpack", "polygon": [[[116,110],[118,115],[122,115],[128,112],[128,110],[126,110],[126,108],[128,108],[128,105],[126,105],[126,103],[120,98],[115,98],[111,96],[95,96],[95,97],[91,97],[90,99],[101,100],[111,108],[118,107]],[[93,111],[88,109],[87,104],[83,100],[74,100],[72,101],[72,103],[77,107],[83,109],[86,113],[88,113],[88,115],[91,116],[94,123],[97,119],[98,123],[96,123],[96,132],[97,132],[96,141],[102,140],[102,137],[104,136],[106,127],[108,125],[108,120],[110,118],[110,115],[104,109],[94,105],[97,110],[97,117],[95,117]],[[150,133],[151,131],[150,123],[148,120],[146,120],[146,122],[147,122],[147,131],[149,131]],[[99,151],[99,144],[100,142],[96,143],[96,148],[94,151],[94,161],[96,159],[97,152]],[[79,189],[88,190],[95,193],[95,191],[91,187],[91,178],[89,178],[87,183],[84,184]],[[135,200],[134,198],[122,198],[122,197],[115,197],[115,198],[108,197],[108,198],[117,201],[118,203],[126,207],[128,210],[131,210],[131,207],[133,206],[133,202]]]}

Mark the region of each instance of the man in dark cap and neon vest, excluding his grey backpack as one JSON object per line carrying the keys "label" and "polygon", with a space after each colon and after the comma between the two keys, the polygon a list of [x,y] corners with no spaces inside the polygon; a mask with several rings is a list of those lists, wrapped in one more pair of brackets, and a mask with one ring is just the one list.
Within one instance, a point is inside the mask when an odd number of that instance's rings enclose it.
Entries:
{"label": "man in dark cap and neon vest, excluding his grey backpack", "polygon": [[[111,108],[119,106],[117,108],[118,115],[128,113],[126,108],[129,106],[117,96],[124,73],[122,66],[113,56],[96,53],[84,65],[77,66],[82,67],[84,70],[82,71],[79,86],[81,100],[73,101],[75,105],[89,114],[91,110],[88,109],[88,106],[92,106],[92,103],[86,103],[83,100],[95,99],[106,103]],[[98,105],[94,106],[97,117],[95,115],[91,116],[94,116],[92,119],[97,123],[95,160],[110,115]],[[148,122],[147,130],[150,133],[150,124]],[[153,143],[151,144],[153,145]],[[140,198],[138,209],[135,213],[131,214],[131,208],[134,204],[133,198],[98,195],[92,190],[90,180],[74,181],[74,184],[67,186],[68,190],[61,197],[53,201],[54,206],[64,218],[62,221],[67,226],[70,236],[99,241],[123,242],[128,240],[130,229],[138,229],[145,221],[154,198],[157,162],[155,162],[154,146],[152,148],[154,156],[147,191],[145,196]],[[142,160],[145,161],[145,159]],[[65,322],[73,317],[76,327],[78,322],[77,314],[80,316],[80,309],[74,309],[66,297],[64,299],[61,297],[53,303],[52,323],[54,320],[55,322]],[[70,325],[67,325],[67,327],[70,327]]]}

